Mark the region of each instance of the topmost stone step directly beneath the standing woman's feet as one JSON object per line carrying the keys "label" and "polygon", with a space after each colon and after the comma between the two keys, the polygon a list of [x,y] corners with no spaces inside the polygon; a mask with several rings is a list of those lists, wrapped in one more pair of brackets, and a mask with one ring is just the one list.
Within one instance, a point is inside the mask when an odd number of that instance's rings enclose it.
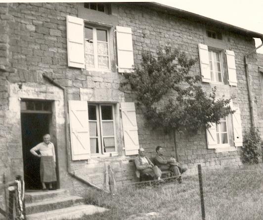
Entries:
{"label": "topmost stone step directly beneath the standing woman's feet", "polygon": [[69,195],[69,191],[66,189],[57,189],[57,190],[29,190],[25,192],[25,201],[26,203],[39,202],[45,199],[53,199],[58,197],[65,197]]}

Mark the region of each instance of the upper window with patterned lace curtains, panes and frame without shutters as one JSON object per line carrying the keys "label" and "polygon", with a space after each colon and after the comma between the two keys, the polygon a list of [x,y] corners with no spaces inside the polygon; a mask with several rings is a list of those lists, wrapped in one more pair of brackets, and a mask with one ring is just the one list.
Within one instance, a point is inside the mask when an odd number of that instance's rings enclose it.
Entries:
{"label": "upper window with patterned lace curtains, panes and frame without shutters", "polygon": [[108,36],[107,29],[85,26],[86,68],[110,69]]}

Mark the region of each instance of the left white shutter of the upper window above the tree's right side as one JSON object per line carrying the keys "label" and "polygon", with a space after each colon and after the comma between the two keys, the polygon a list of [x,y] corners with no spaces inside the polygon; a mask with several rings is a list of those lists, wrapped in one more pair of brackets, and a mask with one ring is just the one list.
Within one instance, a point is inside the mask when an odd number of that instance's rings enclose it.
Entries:
{"label": "left white shutter of the upper window above the tree's right side", "polygon": [[208,46],[202,43],[198,43],[199,49],[199,59],[200,59],[200,67],[201,67],[201,75],[203,82],[211,82],[211,73],[209,67],[209,54],[208,54]]}

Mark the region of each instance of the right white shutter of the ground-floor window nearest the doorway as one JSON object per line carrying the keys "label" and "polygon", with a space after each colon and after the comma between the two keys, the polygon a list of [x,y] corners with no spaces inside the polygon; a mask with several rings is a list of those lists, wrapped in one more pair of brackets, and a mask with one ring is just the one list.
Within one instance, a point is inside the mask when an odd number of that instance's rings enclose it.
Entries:
{"label": "right white shutter of the ground-floor window nearest the doorway", "polygon": [[139,140],[134,103],[121,103],[125,155],[138,154]]}

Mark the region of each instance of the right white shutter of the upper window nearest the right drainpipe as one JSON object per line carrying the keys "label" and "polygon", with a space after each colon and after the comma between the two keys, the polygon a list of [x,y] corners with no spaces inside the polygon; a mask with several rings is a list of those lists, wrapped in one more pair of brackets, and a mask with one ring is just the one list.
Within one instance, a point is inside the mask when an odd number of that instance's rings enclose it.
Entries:
{"label": "right white shutter of the upper window nearest the right drainpipe", "polygon": [[225,54],[229,85],[237,86],[235,53],[232,50],[225,50]]}

